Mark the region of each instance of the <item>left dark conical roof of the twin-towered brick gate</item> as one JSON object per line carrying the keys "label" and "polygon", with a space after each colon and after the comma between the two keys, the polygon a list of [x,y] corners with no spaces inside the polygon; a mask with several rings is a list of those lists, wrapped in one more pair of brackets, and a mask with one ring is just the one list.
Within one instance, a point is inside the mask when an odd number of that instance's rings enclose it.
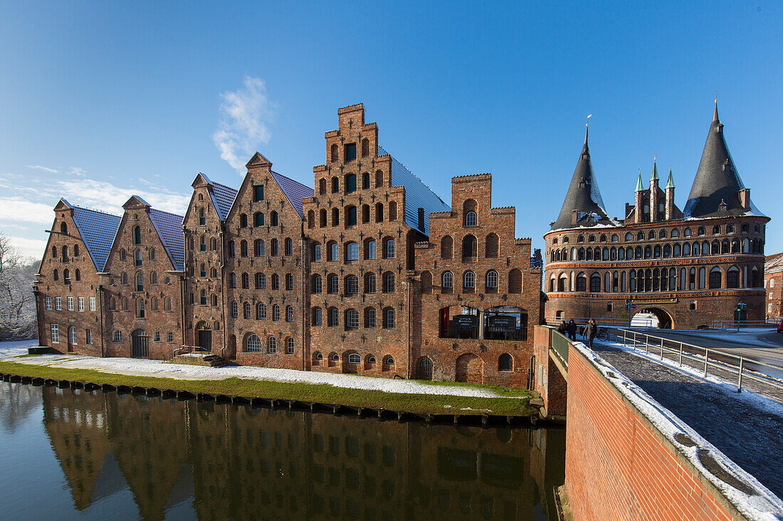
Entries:
{"label": "left dark conical roof of the twin-towered brick gate", "polygon": [[[572,222],[573,210],[578,212],[577,222]],[[609,224],[609,218],[604,210],[604,201],[601,199],[601,191],[598,189],[598,181],[593,172],[593,164],[590,162],[590,149],[587,146],[587,130],[585,130],[585,143],[576,169],[568,185],[565,201],[557,216],[557,221],[552,223],[553,230],[561,228],[578,228],[580,226],[594,226]]]}

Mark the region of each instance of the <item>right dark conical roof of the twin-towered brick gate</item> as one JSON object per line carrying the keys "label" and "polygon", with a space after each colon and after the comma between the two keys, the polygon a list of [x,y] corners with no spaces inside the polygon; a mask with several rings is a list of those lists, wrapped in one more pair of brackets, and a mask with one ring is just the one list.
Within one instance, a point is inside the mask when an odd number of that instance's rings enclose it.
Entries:
{"label": "right dark conical roof of the twin-towered brick gate", "polygon": [[745,185],[734,167],[734,160],[731,159],[726,139],[723,138],[723,124],[718,118],[716,99],[702,160],[698,163],[691,193],[685,204],[685,217],[743,214],[747,210],[742,208],[738,192],[744,188]]}

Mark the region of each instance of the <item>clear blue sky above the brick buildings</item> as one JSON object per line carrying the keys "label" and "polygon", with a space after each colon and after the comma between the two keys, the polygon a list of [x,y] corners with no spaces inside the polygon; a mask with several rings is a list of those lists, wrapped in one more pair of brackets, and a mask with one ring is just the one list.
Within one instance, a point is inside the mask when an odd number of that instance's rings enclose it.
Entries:
{"label": "clear blue sky above the brick buildings", "polygon": [[[337,108],[447,203],[491,172],[535,247],[590,118],[608,213],[653,154],[684,207],[713,113],[773,221],[780,199],[783,4],[0,1],[0,231],[40,257],[60,196],[182,213],[198,171],[237,187],[258,149],[312,185]],[[222,148],[218,148],[218,146]],[[232,166],[234,165],[234,166]]]}

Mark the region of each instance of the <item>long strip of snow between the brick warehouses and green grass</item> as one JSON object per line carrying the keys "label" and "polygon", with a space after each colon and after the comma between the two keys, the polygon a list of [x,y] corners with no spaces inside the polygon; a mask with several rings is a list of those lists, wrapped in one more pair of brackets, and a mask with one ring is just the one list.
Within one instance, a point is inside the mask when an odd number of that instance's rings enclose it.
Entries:
{"label": "long strip of snow between the brick warehouses and green grass", "polygon": [[384,393],[438,394],[481,398],[525,398],[512,396],[489,389],[468,386],[431,385],[416,380],[375,378],[372,376],[341,375],[327,372],[297,371],[295,369],[272,369],[260,367],[223,367],[212,368],[202,365],[168,364],[160,360],[145,358],[95,358],[77,355],[42,354],[37,357],[15,358],[27,354],[27,347],[34,347],[32,340],[25,347],[7,347],[8,342],[0,343],[0,360],[14,361],[20,364],[49,365],[68,369],[92,369],[119,375],[155,376],[183,380],[222,380],[244,378],[254,380],[272,380],[291,383],[323,383],[346,389],[377,390]]}

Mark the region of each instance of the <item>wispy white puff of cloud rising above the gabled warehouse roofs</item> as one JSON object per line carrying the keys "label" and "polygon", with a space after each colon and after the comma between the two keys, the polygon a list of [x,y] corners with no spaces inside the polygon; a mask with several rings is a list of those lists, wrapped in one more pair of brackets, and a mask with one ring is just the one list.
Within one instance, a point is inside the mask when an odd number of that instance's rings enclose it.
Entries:
{"label": "wispy white puff of cloud rising above the gabled warehouse roofs", "polygon": [[257,77],[245,77],[242,88],[223,92],[220,97],[221,116],[212,141],[220,150],[220,157],[241,172],[258,145],[272,138],[267,124],[274,117],[277,104],[266,97],[264,81]]}

